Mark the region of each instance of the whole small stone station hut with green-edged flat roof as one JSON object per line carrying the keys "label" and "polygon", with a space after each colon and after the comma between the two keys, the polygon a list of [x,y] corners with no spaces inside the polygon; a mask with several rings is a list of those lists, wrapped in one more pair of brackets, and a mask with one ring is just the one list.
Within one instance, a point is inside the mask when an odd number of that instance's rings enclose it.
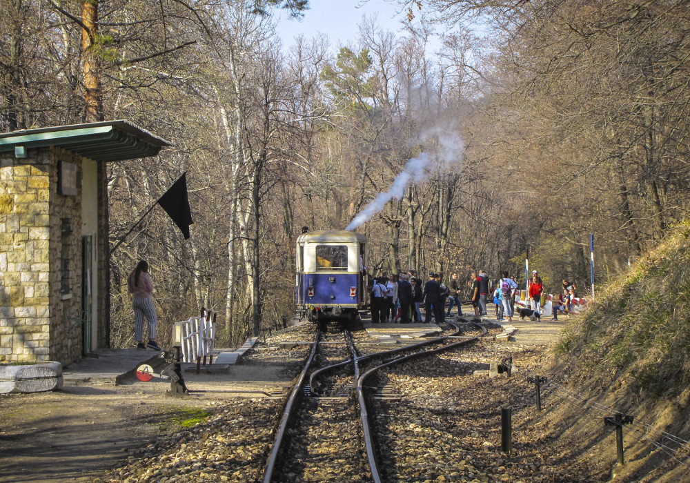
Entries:
{"label": "whole small stone station hut with green-edged flat roof", "polygon": [[128,121],[0,134],[0,362],[109,345],[106,163],[164,146]]}

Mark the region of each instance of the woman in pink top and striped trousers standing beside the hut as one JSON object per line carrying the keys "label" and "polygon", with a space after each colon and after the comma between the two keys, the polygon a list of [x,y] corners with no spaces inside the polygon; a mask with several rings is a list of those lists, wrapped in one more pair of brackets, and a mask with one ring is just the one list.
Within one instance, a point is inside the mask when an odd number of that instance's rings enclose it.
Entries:
{"label": "woman in pink top and striped trousers standing beside the hut", "polygon": [[[132,308],[134,308],[134,334],[137,339],[137,348],[145,349],[150,347],[155,351],[161,348],[156,344],[156,308],[153,306],[151,294],[153,283],[148,275],[148,263],[141,260],[137,268],[130,273],[127,279],[127,288],[132,294]],[[144,344],[144,317],[148,322],[148,344]]]}

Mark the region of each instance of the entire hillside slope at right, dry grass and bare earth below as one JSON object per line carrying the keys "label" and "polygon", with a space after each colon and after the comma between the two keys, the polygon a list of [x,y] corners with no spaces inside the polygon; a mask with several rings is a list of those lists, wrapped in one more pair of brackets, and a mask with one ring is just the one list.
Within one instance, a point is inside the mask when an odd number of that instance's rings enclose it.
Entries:
{"label": "entire hillside slope at right, dry grass and bare earth below", "polygon": [[558,398],[543,422],[580,457],[614,468],[603,417],[632,415],[615,481],[690,482],[689,329],[690,224],[682,224],[564,329],[549,371],[564,386],[552,389]]}

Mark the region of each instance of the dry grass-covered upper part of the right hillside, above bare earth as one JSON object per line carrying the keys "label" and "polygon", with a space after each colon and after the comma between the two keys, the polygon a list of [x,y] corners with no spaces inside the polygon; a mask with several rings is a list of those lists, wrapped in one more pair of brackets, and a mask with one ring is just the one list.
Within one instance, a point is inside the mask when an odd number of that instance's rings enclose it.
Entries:
{"label": "dry grass-covered upper part of the right hillside, above bare earth", "polygon": [[690,382],[690,224],[676,228],[628,273],[600,290],[557,352],[575,374],[649,397]]}

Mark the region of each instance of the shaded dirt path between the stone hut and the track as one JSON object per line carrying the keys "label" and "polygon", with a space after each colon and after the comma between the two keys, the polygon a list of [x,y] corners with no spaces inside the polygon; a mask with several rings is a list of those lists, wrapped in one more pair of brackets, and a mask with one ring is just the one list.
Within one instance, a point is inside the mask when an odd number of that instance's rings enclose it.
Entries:
{"label": "shaded dirt path between the stone hut and the track", "polygon": [[[190,389],[279,391],[280,366],[237,366],[231,375],[188,375]],[[229,381],[228,381],[229,380]],[[234,384],[233,384],[234,383]],[[169,382],[68,386],[61,391],[0,395],[0,482],[86,482],[175,428],[190,411],[208,410],[236,393],[165,395]]]}

